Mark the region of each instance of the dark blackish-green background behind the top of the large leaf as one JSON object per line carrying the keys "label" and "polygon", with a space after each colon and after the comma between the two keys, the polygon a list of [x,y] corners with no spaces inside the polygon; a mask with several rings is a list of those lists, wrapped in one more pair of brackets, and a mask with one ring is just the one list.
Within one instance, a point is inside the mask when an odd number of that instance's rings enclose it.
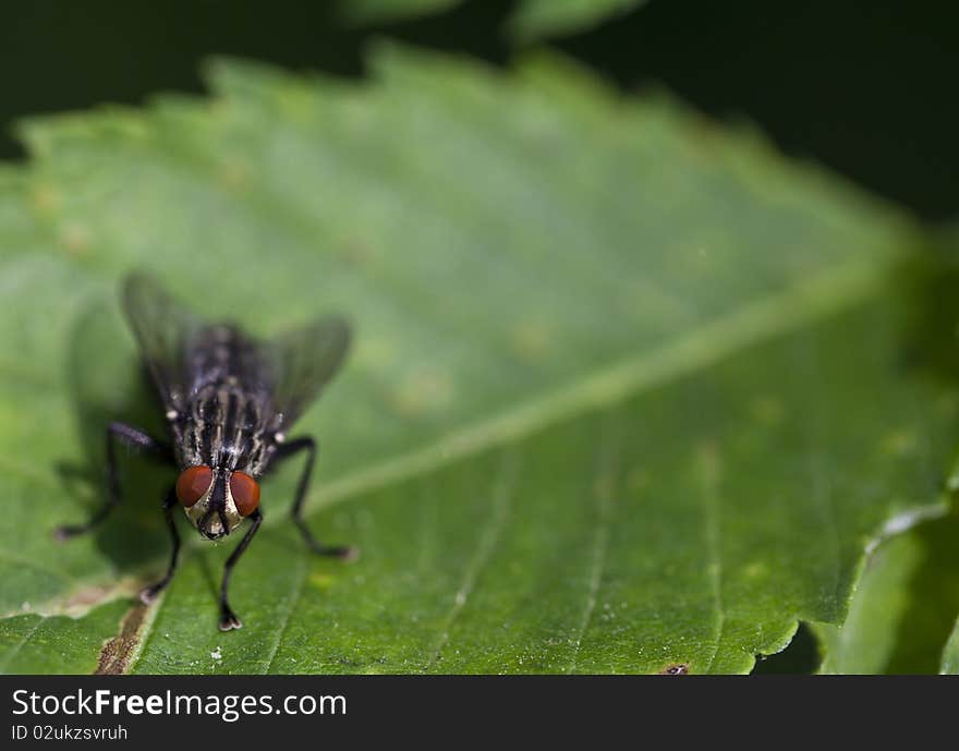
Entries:
{"label": "dark blackish-green background behind the top of the large leaf", "polygon": [[[498,64],[513,2],[473,0],[415,22],[344,28],[332,2],[33,0],[0,20],[0,158],[23,158],[24,114],[202,92],[214,53],[362,75],[389,35]],[[717,118],[761,125],[927,219],[959,216],[959,7],[947,2],[652,0],[551,44],[631,88],[665,85]]]}

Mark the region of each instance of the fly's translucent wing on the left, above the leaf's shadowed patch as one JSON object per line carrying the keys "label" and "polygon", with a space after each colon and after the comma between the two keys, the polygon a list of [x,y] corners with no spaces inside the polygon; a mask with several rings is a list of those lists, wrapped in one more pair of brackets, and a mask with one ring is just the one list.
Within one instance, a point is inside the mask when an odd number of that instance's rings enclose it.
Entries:
{"label": "fly's translucent wing on the left, above the leaf's shadowed patch", "polygon": [[190,392],[187,352],[203,323],[145,274],[124,280],[122,300],[163,409],[183,412]]}

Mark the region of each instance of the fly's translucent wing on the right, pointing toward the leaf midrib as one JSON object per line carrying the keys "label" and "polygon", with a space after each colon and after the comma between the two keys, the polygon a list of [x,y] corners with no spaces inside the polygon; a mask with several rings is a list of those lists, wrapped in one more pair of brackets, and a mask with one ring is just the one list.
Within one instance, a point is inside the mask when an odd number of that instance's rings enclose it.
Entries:
{"label": "fly's translucent wing on the right, pointing toward the leaf midrib", "polygon": [[331,315],[262,344],[272,375],[277,429],[289,428],[319,396],[342,364],[350,339],[349,324]]}

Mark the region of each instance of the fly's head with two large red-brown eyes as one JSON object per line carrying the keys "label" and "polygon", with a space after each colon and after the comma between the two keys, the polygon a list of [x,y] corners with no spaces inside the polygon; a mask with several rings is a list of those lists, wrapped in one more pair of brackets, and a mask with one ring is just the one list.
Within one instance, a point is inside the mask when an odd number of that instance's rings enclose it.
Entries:
{"label": "fly's head with two large red-brown eyes", "polygon": [[219,540],[259,506],[259,484],[245,472],[197,464],[177,479],[177,500],[202,537]]}

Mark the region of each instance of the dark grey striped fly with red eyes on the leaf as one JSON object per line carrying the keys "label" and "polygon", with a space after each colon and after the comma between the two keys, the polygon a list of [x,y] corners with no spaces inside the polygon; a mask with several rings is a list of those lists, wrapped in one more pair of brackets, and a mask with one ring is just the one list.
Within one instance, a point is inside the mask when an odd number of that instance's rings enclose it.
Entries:
{"label": "dark grey striped fly with red eyes on the leaf", "polygon": [[338,316],[317,318],[259,341],[231,324],[209,324],[177,304],[151,278],[134,274],[122,288],[123,310],[162,403],[169,440],[125,423],[107,427],[107,500],[85,524],[57,530],[60,540],[89,532],[119,504],[118,443],[172,463],[179,476],[162,509],[172,541],[166,576],[139,593],[151,603],[173,577],[180,535],[173,508],[181,506],[205,540],[220,540],[248,520],[227,559],[220,584],[220,629],[242,627],[230,607],[230,574],[263,523],[259,477],[278,462],[305,453],[292,520],[313,553],[352,557],[352,547],[323,545],[303,520],[303,500],[316,459],[311,436],[288,439],[296,419],[332,378],[350,347],[350,328]]}

